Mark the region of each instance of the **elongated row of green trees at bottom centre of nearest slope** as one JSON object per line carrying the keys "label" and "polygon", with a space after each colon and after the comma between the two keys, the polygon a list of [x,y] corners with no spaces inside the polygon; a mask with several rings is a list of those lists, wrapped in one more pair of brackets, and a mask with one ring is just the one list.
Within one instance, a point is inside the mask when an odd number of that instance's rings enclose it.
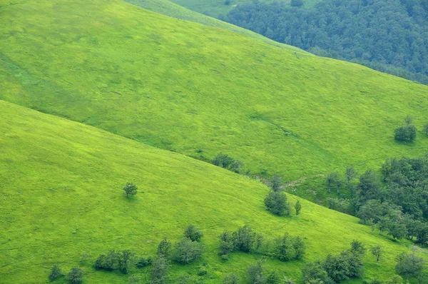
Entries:
{"label": "elongated row of green trees at bottom centre of nearest slope", "polygon": [[255,233],[248,225],[238,228],[233,233],[225,230],[219,235],[219,239],[218,254],[224,260],[228,259],[228,253],[242,251],[288,261],[302,258],[306,251],[306,245],[300,237],[292,237],[285,233],[273,240],[266,240],[263,235]]}

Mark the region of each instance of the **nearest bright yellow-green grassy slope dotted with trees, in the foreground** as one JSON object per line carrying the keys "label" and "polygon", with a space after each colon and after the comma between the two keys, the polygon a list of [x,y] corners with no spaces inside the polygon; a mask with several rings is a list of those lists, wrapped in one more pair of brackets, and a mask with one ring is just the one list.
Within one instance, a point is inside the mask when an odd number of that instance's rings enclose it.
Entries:
{"label": "nearest bright yellow-green grassy slope dotted with trees, in the foreground", "polygon": [[[266,263],[295,279],[304,262],[338,253],[355,238],[387,252],[379,266],[367,255],[367,276],[392,275],[394,255],[408,250],[406,241],[371,235],[357,218],[308,201],[298,217],[270,215],[263,184],[208,163],[4,101],[0,113],[1,283],[43,283],[51,265],[68,270],[86,250],[92,255],[83,265],[86,283],[125,283],[128,276],[93,270],[96,256],[111,248],[153,255],[161,238],[178,240],[188,223],[203,229],[207,251],[194,265],[174,266],[173,275],[195,275],[206,261],[205,283],[220,283],[235,270],[244,275],[255,263],[239,253],[222,263],[216,253],[216,236],[244,224],[269,238],[285,231],[305,236],[304,260]],[[127,181],[144,193],[127,199],[121,192]]]}

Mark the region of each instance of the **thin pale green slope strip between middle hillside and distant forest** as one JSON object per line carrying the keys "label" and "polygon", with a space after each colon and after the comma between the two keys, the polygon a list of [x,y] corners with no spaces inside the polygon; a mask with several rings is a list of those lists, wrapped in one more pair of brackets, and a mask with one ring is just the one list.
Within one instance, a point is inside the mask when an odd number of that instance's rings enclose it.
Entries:
{"label": "thin pale green slope strip between middle hillside and distant forest", "polygon": [[224,21],[214,19],[210,16],[205,16],[198,12],[191,11],[189,9],[184,8],[183,6],[174,4],[173,2],[168,0],[125,0],[125,1],[133,5],[139,6],[141,8],[156,12],[158,14],[171,16],[177,19],[183,19],[186,21],[195,21],[196,23],[204,24],[206,26],[213,26],[216,28],[227,29],[229,31],[235,31],[239,34],[249,36],[250,38],[263,41],[266,44],[271,44],[272,46],[278,46],[282,49],[290,49],[299,54],[307,54],[306,51],[302,51],[302,49],[297,49],[297,47],[295,46],[280,44],[277,41],[272,41],[272,39],[267,39],[265,36],[261,36],[260,34],[257,34],[248,29],[243,29],[240,26],[235,26],[233,24],[229,24]]}

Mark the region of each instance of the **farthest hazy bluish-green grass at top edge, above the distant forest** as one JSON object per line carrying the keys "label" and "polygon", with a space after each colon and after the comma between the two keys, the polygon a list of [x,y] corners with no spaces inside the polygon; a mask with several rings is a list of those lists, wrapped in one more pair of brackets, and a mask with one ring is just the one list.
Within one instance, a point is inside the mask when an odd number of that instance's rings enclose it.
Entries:
{"label": "farthest hazy bluish-green grass at top edge, above the distant forest", "polygon": [[[230,0],[230,5],[225,5],[225,0],[171,0],[172,2],[184,6],[190,10],[199,13],[205,13],[210,16],[218,17],[228,14],[236,5],[251,3],[253,0]],[[260,0],[261,2],[272,2],[274,0]],[[290,0],[280,0],[285,4],[290,4]],[[321,0],[303,0],[305,8],[310,8]]]}

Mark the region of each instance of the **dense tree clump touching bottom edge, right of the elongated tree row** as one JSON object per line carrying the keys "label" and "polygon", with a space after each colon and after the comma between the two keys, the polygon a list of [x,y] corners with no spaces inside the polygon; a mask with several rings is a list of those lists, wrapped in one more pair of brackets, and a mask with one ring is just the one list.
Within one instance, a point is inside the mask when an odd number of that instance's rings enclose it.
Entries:
{"label": "dense tree clump touching bottom edge, right of the elongated tree row", "polygon": [[327,255],[323,261],[308,263],[302,268],[305,283],[339,283],[350,278],[361,278],[365,250],[360,241],[354,240],[350,249],[337,255]]}

